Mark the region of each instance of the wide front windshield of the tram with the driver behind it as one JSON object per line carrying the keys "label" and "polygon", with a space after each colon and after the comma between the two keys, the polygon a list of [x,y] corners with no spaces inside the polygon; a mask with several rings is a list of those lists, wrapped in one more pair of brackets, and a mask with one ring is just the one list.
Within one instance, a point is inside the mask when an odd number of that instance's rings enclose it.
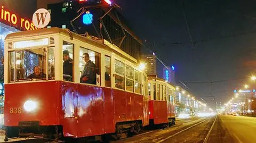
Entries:
{"label": "wide front windshield of the tram with the driver behind it", "polygon": [[46,79],[54,79],[53,47],[9,52],[9,82]]}

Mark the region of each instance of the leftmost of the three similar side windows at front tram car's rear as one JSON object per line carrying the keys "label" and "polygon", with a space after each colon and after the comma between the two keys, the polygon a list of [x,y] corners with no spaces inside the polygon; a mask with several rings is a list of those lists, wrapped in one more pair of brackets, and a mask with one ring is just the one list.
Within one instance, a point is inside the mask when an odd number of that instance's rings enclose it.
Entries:
{"label": "leftmost of the three similar side windows at front tram car's rear", "polygon": [[115,87],[124,89],[124,63],[115,60]]}

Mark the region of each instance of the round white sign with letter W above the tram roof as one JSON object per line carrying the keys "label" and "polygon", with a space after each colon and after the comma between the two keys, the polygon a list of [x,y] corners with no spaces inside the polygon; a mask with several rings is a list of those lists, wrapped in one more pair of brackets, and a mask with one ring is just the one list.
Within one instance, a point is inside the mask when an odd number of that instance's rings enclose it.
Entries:
{"label": "round white sign with letter W above the tram roof", "polygon": [[36,28],[45,28],[51,21],[51,14],[46,9],[38,9],[32,20]]}

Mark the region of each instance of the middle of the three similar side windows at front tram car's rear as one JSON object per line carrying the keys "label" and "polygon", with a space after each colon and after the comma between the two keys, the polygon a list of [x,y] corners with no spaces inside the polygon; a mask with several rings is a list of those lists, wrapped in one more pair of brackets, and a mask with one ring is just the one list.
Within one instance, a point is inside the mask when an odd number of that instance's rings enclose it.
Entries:
{"label": "middle of the three similar side windows at front tram car's rear", "polygon": [[126,87],[125,88],[126,88],[127,91],[132,91],[133,92],[134,69],[131,66],[126,65],[125,66],[125,71],[126,71],[126,73],[125,73],[125,75],[126,75],[126,81],[125,81],[126,85],[125,86]]}

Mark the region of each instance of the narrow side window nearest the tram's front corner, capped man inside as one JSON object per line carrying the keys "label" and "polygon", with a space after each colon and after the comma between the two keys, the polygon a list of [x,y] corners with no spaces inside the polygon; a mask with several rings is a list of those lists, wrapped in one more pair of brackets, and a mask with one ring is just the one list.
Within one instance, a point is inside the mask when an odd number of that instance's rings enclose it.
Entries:
{"label": "narrow side window nearest the tram's front corner, capped man inside", "polygon": [[74,81],[73,79],[73,56],[74,56],[74,44],[63,41],[63,80]]}

